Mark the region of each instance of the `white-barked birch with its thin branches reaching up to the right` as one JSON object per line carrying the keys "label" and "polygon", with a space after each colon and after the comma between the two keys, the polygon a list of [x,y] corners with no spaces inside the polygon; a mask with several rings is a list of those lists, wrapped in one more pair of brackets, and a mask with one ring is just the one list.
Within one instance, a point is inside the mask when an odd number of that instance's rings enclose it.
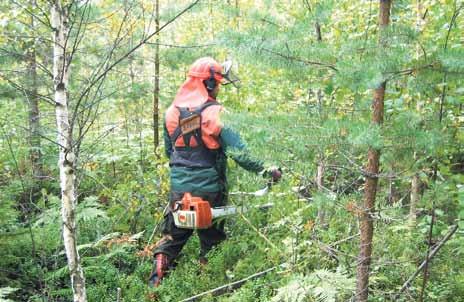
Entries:
{"label": "white-barked birch with its thin branches reaching up to the right", "polygon": [[[185,9],[180,11],[172,19],[167,21],[163,26],[157,28],[154,32],[145,36],[135,46],[131,47],[120,57],[116,58],[112,63],[108,64],[107,60],[102,63],[102,71],[95,74],[90,83],[85,87],[80,97],[75,101],[73,110],[69,107],[69,91],[68,84],[71,75],[70,65],[72,54],[75,54],[76,43],[70,43],[70,10],[74,2],[69,4],[63,1],[55,0],[51,3],[51,26],[53,30],[53,93],[55,102],[55,116],[57,123],[57,144],[59,145],[59,161],[60,170],[60,188],[61,188],[61,216],[63,228],[63,242],[68,261],[68,268],[71,277],[71,287],[73,291],[73,300],[75,302],[87,301],[85,290],[85,278],[80,264],[80,257],[77,250],[77,224],[76,224],[76,172],[77,158],[79,154],[79,146],[88,132],[89,127],[93,124],[96,117],[96,110],[93,109],[95,102],[87,102],[89,95],[96,90],[92,95],[97,96],[98,91],[102,88],[103,82],[111,70],[119,63],[128,59],[137,49],[145,45],[152,37],[154,37],[163,28],[174,22],[192,7],[199,0],[192,2]],[[87,6],[89,2],[85,3]],[[85,10],[84,10],[85,13]],[[74,20],[76,21],[76,20]],[[79,22],[81,22],[80,20]],[[76,35],[82,35],[83,32],[77,32]],[[79,37],[74,37],[78,41]],[[114,49],[110,50],[108,60],[111,59]],[[69,49],[68,49],[69,48]],[[83,106],[88,108],[88,112],[81,110]],[[84,113],[82,113],[84,112]],[[93,114],[91,114],[93,113]],[[78,128],[77,139],[73,139],[73,126],[79,122],[79,114],[85,114],[81,125]]]}

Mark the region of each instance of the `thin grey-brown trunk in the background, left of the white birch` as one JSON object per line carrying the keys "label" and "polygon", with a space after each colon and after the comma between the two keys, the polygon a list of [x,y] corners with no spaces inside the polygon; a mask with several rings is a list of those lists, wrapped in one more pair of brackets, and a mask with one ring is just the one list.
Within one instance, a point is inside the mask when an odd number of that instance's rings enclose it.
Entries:
{"label": "thin grey-brown trunk in the background, left of the white birch", "polygon": [[[35,1],[32,2],[35,7]],[[30,151],[29,157],[31,159],[32,176],[34,180],[40,180],[43,175],[42,167],[42,152],[40,148],[40,116],[39,116],[39,97],[38,97],[38,83],[37,83],[37,58],[36,58],[36,39],[35,39],[35,24],[34,17],[31,16],[31,34],[33,36],[32,43],[29,48],[28,61],[29,61],[29,93],[28,93],[28,107],[29,107],[29,144]]]}

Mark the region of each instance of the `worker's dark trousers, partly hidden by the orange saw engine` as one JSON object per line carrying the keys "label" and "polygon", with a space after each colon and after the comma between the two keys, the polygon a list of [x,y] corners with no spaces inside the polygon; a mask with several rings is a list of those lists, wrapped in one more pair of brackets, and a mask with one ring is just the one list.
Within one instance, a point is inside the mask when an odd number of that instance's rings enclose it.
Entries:
{"label": "worker's dark trousers, partly hidden by the orange saw engine", "polygon": [[[158,241],[157,247],[153,254],[165,254],[168,257],[169,263],[172,263],[181,252],[184,245],[187,243],[190,236],[193,234],[192,229],[181,229],[174,224],[174,217],[171,210],[176,201],[182,199],[184,193],[171,192],[169,211],[164,215],[163,222],[161,223],[161,233],[163,238]],[[192,196],[201,197],[203,200],[209,202],[210,206],[219,207],[226,204],[226,195],[222,192],[215,193],[198,193]],[[200,238],[200,259],[206,259],[206,254],[221,241],[226,239],[224,232],[224,220],[214,222],[208,229],[197,230],[198,237]]]}

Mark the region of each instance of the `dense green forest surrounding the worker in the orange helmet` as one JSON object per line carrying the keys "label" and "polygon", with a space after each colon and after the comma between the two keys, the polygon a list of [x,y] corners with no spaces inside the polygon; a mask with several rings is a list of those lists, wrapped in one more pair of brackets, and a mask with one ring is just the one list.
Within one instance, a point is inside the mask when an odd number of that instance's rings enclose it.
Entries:
{"label": "dense green forest surrounding the worker in the orange helmet", "polygon": [[[2,1],[0,301],[180,301],[266,270],[199,300],[462,301],[463,15],[458,0]],[[255,197],[266,180],[229,162],[230,203],[274,207],[228,218],[202,270],[192,238],[151,289],[163,114],[204,56],[235,62],[224,123],[284,177]]]}

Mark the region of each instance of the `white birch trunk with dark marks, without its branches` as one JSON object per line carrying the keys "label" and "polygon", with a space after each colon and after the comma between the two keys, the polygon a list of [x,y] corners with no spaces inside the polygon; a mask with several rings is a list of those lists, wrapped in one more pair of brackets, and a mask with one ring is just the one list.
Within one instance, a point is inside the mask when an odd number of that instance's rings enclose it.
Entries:
{"label": "white birch trunk with dark marks, without its branches", "polygon": [[63,242],[71,277],[73,300],[87,301],[85,279],[77,251],[76,240],[76,193],[75,193],[75,154],[73,152],[72,125],[68,115],[69,62],[66,53],[68,42],[68,12],[60,0],[55,0],[51,7],[51,24],[53,28],[53,87],[55,97],[56,124],[59,144],[61,217]]}

